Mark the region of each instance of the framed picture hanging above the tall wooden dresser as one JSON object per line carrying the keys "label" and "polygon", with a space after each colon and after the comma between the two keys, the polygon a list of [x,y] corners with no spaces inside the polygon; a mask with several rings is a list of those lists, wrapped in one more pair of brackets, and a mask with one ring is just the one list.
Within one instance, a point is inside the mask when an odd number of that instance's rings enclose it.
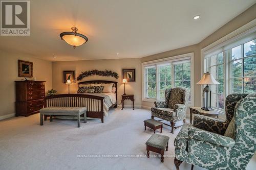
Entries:
{"label": "framed picture hanging above the tall wooden dresser", "polygon": [[18,77],[33,77],[33,63],[18,60]]}

